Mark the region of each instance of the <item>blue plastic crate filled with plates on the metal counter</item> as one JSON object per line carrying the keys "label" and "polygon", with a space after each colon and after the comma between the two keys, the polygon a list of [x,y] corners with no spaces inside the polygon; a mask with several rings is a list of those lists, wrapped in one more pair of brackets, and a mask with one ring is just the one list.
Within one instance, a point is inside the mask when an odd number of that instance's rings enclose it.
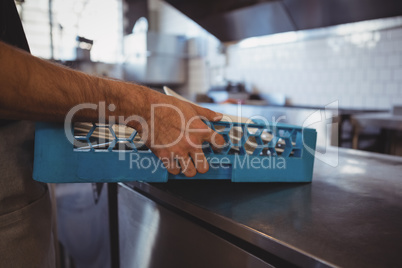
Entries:
{"label": "blue plastic crate filled with plates on the metal counter", "polygon": [[[134,142],[136,132],[129,138],[117,138],[110,126],[93,125],[84,136],[86,148],[74,148],[66,138],[61,124],[37,123],[35,134],[35,180],[47,183],[70,182],[166,182],[170,179],[230,179],[233,182],[310,182],[312,180],[317,132],[315,129],[277,123],[244,124],[207,122],[225,138],[227,145],[214,151],[204,149],[210,169],[188,178],[172,175],[149,150],[140,150]],[[93,145],[95,129],[107,128],[112,136],[106,147]],[[232,128],[243,134],[234,141]],[[270,136],[266,142],[264,135]],[[116,149],[126,143],[128,150]],[[252,153],[250,154],[250,152]],[[155,164],[156,163],[156,164]]]}

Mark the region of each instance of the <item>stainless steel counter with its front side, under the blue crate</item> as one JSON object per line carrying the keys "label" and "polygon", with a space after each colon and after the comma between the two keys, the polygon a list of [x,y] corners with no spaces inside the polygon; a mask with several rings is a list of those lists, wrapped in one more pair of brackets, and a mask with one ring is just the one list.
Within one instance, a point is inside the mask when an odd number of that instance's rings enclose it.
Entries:
{"label": "stainless steel counter with its front side, under the blue crate", "polygon": [[[326,154],[338,164],[317,160],[307,184],[120,184],[122,267],[133,255],[146,256],[146,267],[190,259],[196,267],[232,259],[233,267],[401,266],[402,158],[332,147]],[[216,252],[215,266],[208,256]]]}

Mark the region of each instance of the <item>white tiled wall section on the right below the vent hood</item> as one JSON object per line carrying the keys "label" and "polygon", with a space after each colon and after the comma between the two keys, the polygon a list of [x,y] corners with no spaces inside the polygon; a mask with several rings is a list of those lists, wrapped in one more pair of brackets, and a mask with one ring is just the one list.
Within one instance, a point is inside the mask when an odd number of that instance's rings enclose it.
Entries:
{"label": "white tiled wall section on the right below the vent hood", "polygon": [[[228,79],[296,105],[390,109],[402,105],[402,28],[228,50]],[[216,74],[219,75],[219,74]]]}

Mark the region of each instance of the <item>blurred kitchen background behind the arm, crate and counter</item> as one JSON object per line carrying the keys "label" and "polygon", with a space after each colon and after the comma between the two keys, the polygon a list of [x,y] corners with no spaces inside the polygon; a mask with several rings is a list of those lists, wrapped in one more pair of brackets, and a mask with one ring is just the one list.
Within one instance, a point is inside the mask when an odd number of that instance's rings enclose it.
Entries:
{"label": "blurred kitchen background behind the arm, crate and counter", "polygon": [[247,115],[290,113],[302,125],[297,114],[331,111],[324,143],[402,155],[399,1],[16,3],[36,56],[167,85],[223,112],[241,103]]}

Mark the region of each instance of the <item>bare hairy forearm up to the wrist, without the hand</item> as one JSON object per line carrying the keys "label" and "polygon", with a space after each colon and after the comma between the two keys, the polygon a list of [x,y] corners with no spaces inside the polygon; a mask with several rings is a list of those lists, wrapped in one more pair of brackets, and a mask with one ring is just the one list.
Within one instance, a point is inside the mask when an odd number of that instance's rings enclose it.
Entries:
{"label": "bare hairy forearm up to the wrist, without the hand", "polygon": [[[53,64],[0,42],[0,117],[63,121],[78,104],[105,102],[109,116],[147,116],[151,90],[90,76]],[[99,112],[80,110],[76,119],[99,121]]]}

